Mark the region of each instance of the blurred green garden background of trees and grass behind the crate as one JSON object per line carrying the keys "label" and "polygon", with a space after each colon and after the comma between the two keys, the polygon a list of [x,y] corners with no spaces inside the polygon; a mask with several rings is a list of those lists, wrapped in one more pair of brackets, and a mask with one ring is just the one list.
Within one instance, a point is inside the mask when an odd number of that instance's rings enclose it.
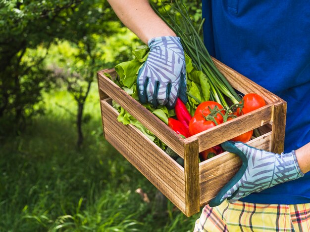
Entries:
{"label": "blurred green garden background of trees and grass behind the crate", "polygon": [[0,0],[0,231],[193,229],[102,136],[96,71],[140,44],[106,0]]}

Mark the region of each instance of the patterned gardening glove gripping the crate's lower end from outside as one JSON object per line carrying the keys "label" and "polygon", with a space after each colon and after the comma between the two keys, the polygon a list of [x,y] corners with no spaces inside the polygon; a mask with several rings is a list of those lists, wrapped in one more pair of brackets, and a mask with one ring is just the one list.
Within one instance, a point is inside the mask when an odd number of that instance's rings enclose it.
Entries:
{"label": "patterned gardening glove gripping the crate's lower end from outside", "polygon": [[220,205],[226,198],[230,203],[235,203],[250,193],[260,192],[304,176],[297,162],[295,151],[287,154],[274,154],[232,141],[224,142],[222,148],[238,155],[242,159],[242,166],[209,202],[210,207]]}

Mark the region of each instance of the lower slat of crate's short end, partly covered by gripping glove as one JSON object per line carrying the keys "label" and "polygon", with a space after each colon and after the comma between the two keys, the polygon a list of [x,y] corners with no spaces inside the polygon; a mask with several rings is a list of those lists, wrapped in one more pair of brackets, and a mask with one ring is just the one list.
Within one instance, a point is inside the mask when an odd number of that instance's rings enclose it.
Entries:
{"label": "lower slat of crate's short end, partly covered by gripping glove", "polygon": [[[271,132],[249,141],[252,147],[270,151]],[[199,165],[200,205],[206,205],[223,186],[235,175],[241,166],[241,159],[232,153],[222,153]]]}

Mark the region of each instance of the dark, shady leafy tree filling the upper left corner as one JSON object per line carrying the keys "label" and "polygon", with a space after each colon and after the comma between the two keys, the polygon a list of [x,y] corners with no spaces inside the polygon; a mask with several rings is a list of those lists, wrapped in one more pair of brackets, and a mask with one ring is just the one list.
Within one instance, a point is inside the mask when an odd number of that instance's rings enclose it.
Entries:
{"label": "dark, shady leafy tree filling the upper left corner", "polygon": [[[0,0],[0,119],[22,125],[40,112],[34,105],[51,86],[43,61],[55,38],[111,35],[115,20],[105,0]],[[38,46],[46,48],[43,54],[26,57]]]}

